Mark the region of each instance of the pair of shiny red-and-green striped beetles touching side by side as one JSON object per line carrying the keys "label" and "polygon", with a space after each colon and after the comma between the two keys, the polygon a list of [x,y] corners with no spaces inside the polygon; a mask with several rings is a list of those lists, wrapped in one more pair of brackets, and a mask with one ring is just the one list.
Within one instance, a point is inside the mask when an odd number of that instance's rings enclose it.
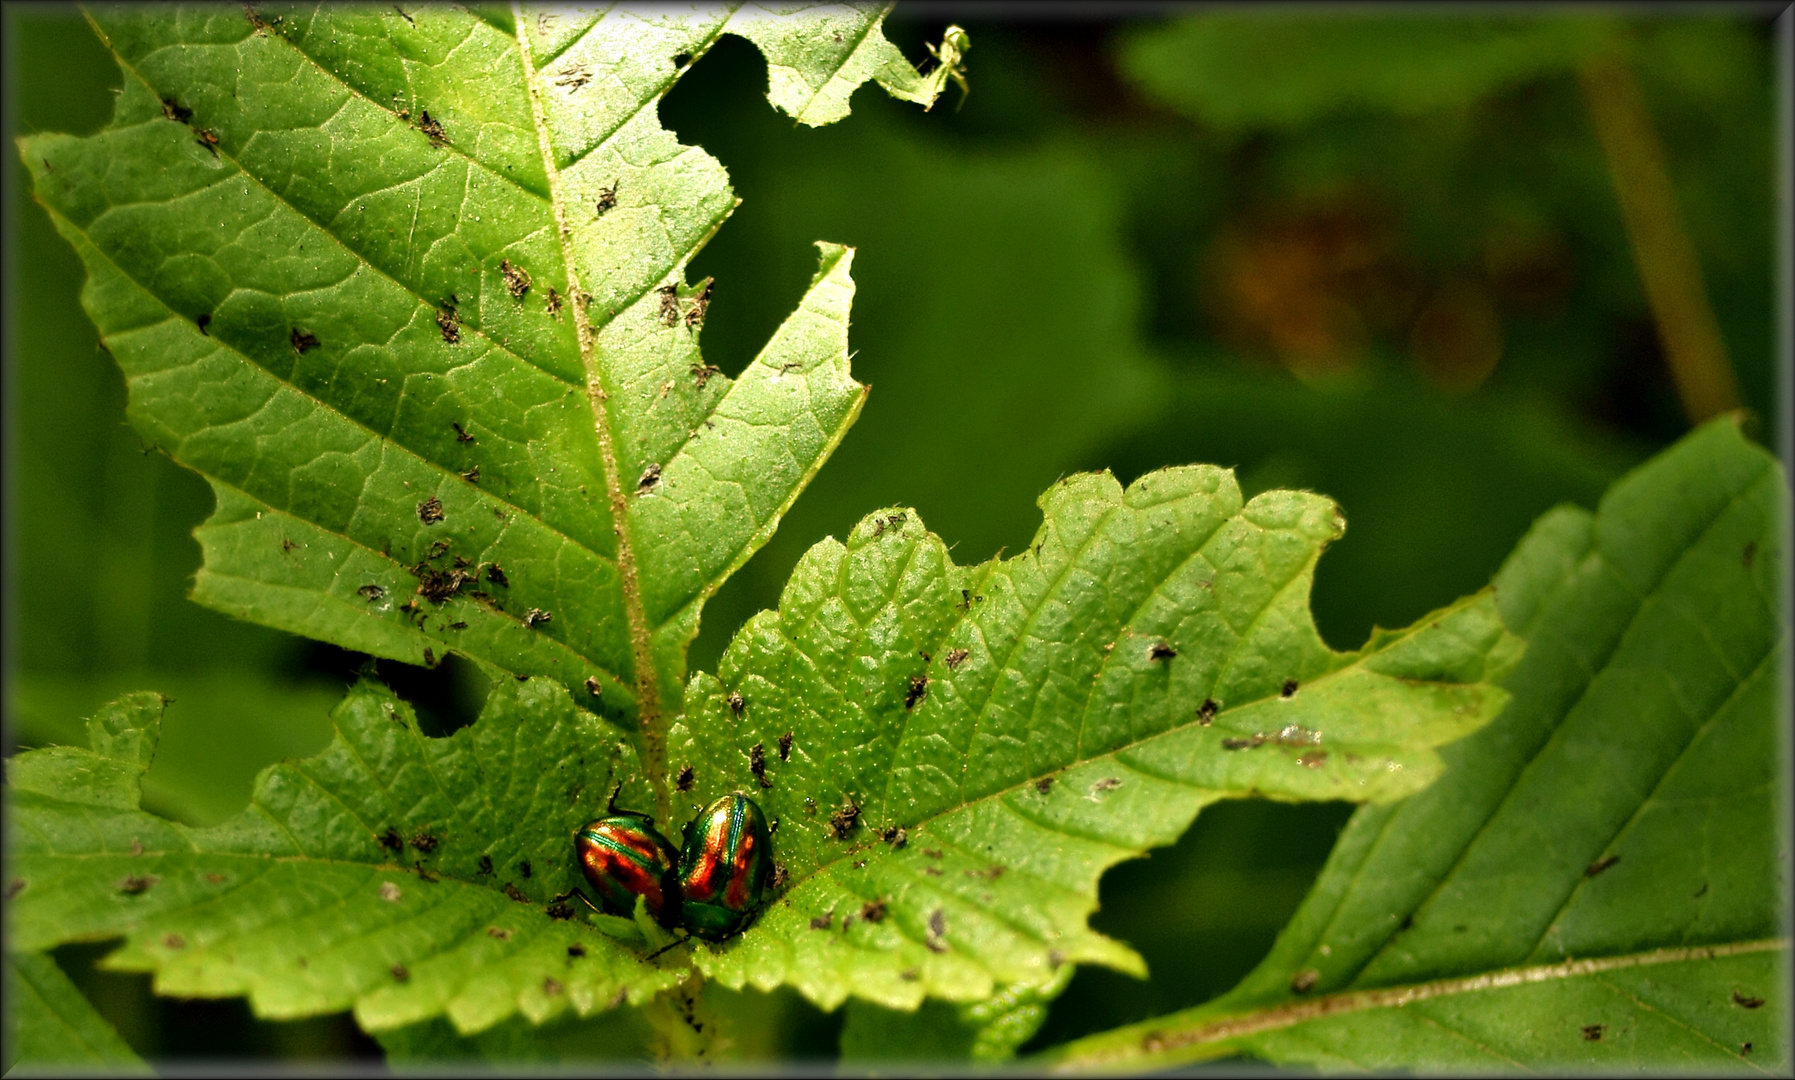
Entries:
{"label": "pair of shiny red-and-green striped beetles touching side by side", "polygon": [[766,814],[740,791],[686,825],[684,852],[673,850],[653,818],[619,809],[580,829],[574,850],[607,911],[630,915],[643,897],[655,922],[709,942],[754,919],[774,872]]}

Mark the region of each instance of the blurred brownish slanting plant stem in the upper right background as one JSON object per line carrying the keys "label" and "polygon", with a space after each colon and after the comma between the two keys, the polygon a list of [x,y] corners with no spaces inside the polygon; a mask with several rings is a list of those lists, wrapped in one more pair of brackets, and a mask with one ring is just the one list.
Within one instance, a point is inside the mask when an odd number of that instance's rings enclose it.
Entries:
{"label": "blurred brownish slanting plant stem in the upper right background", "polygon": [[1578,77],[1684,414],[1700,423],[1736,409],[1739,388],[1639,81],[1617,54],[1585,63]]}

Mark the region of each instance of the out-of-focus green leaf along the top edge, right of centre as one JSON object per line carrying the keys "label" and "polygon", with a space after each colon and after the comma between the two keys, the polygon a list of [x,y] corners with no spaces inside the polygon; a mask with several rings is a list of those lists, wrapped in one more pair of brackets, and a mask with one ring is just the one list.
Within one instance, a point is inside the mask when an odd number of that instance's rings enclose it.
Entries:
{"label": "out-of-focus green leaf along the top edge, right of centre", "polygon": [[1134,34],[1122,70],[1221,129],[1292,127],[1352,109],[1463,108],[1608,47],[1612,20],[1197,14]]}

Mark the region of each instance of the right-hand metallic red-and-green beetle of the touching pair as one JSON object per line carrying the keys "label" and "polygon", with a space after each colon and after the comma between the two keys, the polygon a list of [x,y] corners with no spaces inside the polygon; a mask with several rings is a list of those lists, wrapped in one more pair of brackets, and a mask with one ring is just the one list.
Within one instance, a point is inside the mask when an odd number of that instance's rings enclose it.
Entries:
{"label": "right-hand metallic red-and-green beetle of the touching pair", "polygon": [[686,929],[716,942],[747,926],[774,872],[766,814],[741,791],[713,802],[686,825],[680,904]]}

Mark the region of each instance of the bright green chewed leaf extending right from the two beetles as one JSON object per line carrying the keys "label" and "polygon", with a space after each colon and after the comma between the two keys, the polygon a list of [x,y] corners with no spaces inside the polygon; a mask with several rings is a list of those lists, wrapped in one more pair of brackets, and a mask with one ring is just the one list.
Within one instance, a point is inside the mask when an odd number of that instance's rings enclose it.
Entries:
{"label": "bright green chewed leaf extending right from the two beetles", "polygon": [[695,806],[756,793],[790,881],[740,942],[696,949],[704,974],[915,1008],[1064,963],[1140,972],[1086,928],[1104,868],[1217,798],[1409,795],[1506,701],[1488,680],[1520,642],[1488,590],[1359,653],[1321,642],[1327,499],[1242,506],[1233,474],[1194,466],[1068,477],[1041,508],[1023,554],[975,567],[914,511],[869,517],[693,678],[670,761]]}

